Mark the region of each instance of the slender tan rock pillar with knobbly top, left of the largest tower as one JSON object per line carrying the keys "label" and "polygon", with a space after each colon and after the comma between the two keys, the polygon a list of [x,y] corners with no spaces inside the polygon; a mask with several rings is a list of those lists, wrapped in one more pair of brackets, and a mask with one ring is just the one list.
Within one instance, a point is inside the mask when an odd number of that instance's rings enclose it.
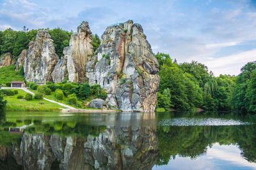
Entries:
{"label": "slender tan rock pillar with knobbly top, left of the largest tower", "polygon": [[85,66],[90,55],[93,54],[92,31],[88,22],[82,22],[77,27],[77,34],[70,38],[67,49],[68,80],[72,82],[85,82]]}

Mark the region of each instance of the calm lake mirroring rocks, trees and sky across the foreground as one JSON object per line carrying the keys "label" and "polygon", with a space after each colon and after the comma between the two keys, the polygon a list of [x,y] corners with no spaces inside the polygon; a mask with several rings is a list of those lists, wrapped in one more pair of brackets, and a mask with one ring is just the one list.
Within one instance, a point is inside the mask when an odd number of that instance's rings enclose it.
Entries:
{"label": "calm lake mirroring rocks, trees and sky across the foreground", "polygon": [[0,169],[256,169],[256,115],[0,113]]}

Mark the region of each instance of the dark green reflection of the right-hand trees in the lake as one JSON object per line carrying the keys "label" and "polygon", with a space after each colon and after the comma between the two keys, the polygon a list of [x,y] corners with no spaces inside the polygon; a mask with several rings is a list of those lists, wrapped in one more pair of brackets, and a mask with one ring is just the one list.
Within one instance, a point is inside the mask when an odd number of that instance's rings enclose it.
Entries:
{"label": "dark green reflection of the right-hand trees in the lake", "polygon": [[159,138],[158,165],[167,164],[176,155],[195,159],[212,143],[238,144],[241,155],[256,161],[256,126],[188,126],[157,127]]}

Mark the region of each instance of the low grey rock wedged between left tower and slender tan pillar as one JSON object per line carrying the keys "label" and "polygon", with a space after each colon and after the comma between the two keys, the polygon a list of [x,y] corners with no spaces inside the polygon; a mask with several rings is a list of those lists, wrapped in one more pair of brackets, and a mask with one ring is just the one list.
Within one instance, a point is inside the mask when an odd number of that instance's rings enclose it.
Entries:
{"label": "low grey rock wedged between left tower and slender tan pillar", "polygon": [[67,56],[70,55],[69,52],[70,48],[65,47],[63,50],[64,56],[59,60],[52,71],[52,81],[54,81],[54,83],[62,82],[68,78]]}

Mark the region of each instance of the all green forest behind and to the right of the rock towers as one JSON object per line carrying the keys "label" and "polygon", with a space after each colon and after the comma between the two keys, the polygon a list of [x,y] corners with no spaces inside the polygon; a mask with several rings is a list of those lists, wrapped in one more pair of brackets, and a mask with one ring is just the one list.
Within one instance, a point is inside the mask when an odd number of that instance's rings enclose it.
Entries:
{"label": "all green forest behind and to the right of the rock towers", "polygon": [[[17,59],[22,50],[28,49],[29,42],[36,38],[38,30],[40,29],[29,30],[24,26],[22,31],[12,29],[0,31],[0,55],[10,52]],[[56,53],[61,58],[63,48],[68,46],[70,36],[74,32],[64,31],[61,28],[47,30],[54,41]],[[99,45],[99,36],[94,34],[94,50],[97,50]],[[166,53],[156,53],[155,57],[159,62],[161,78],[156,111],[202,108],[256,113],[256,61],[248,62],[243,66],[238,76],[226,74],[214,76],[208,71],[207,66],[196,61],[178,63]],[[3,94],[0,94],[0,108],[5,104]]]}

